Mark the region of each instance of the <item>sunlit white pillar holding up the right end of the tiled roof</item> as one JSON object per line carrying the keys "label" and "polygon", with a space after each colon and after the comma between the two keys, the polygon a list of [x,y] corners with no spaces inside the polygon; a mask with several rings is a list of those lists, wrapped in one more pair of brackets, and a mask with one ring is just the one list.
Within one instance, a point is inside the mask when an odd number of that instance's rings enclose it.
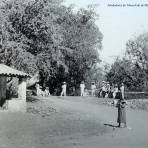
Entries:
{"label": "sunlit white pillar holding up the right end of the tiled roof", "polygon": [[18,98],[26,101],[26,78],[19,78]]}

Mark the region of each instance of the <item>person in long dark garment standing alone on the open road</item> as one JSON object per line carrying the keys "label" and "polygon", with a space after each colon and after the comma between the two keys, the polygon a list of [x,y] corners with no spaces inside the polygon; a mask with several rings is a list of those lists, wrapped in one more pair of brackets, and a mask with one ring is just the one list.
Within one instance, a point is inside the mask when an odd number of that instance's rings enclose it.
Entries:
{"label": "person in long dark garment standing alone on the open road", "polygon": [[118,127],[121,127],[121,124],[124,124],[124,127],[127,127],[126,124],[126,101],[122,98],[121,92],[119,92],[119,100],[117,102],[116,107],[118,108],[118,117],[117,117],[117,123]]}

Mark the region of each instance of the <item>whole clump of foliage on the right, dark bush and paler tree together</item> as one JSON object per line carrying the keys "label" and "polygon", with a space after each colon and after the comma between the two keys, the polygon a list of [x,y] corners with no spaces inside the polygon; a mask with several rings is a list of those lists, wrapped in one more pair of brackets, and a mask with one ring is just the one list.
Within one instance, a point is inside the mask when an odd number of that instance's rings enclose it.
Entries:
{"label": "whole clump of foliage on the right, dark bush and paler tree together", "polygon": [[124,82],[129,90],[142,91],[147,89],[148,73],[148,34],[139,35],[126,44],[126,56],[117,59],[107,73],[112,83]]}

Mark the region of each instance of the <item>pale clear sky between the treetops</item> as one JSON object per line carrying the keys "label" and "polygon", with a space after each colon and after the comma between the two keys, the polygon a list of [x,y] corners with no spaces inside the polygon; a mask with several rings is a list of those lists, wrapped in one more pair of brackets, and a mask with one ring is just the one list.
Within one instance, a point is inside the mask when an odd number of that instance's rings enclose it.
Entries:
{"label": "pale clear sky between the treetops", "polygon": [[104,62],[122,57],[129,39],[148,32],[148,0],[65,0],[64,4],[74,4],[76,9],[98,4],[96,24],[104,36],[100,51]]}

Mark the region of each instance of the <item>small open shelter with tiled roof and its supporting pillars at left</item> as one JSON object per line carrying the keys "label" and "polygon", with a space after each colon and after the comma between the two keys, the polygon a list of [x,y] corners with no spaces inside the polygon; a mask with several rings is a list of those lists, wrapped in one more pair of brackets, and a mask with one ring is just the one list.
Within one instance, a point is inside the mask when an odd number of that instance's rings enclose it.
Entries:
{"label": "small open shelter with tiled roof and its supporting pillars at left", "polygon": [[0,64],[0,105],[6,100],[7,77],[17,77],[18,81],[18,99],[26,102],[26,81],[30,77],[22,71]]}

